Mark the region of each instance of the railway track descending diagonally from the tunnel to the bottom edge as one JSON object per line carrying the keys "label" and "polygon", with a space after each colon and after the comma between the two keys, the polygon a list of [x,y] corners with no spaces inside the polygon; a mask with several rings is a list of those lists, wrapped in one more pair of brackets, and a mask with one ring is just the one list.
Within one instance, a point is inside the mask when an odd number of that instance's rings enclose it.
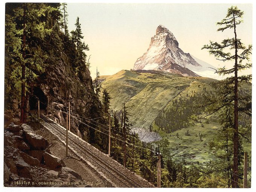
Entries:
{"label": "railway track descending diagonally from the tunnel to the bottom edge", "polygon": [[[66,129],[48,117],[41,115],[41,124],[50,129],[60,140],[66,141]],[[90,163],[113,187],[154,187],[151,183],[124,168],[108,155],[94,148],[69,131],[69,149],[75,151],[82,161]]]}

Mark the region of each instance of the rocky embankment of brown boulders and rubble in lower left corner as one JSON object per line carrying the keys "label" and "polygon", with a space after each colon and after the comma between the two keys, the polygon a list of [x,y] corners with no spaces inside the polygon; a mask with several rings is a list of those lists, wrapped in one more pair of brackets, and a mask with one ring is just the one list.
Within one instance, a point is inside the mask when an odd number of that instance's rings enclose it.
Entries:
{"label": "rocky embankment of brown boulders and rubble in lower left corner", "polygon": [[49,142],[27,124],[4,130],[4,186],[84,187],[82,177],[49,150]]}

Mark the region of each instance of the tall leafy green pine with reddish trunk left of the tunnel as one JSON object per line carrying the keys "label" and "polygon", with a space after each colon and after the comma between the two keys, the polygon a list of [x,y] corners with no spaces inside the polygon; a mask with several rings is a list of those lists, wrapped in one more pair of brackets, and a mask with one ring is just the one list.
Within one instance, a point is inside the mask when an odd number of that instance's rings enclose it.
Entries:
{"label": "tall leafy green pine with reddish trunk left of the tunnel", "polygon": [[[15,83],[14,87],[21,87],[21,123],[26,122],[32,82],[44,71],[43,66],[47,62],[47,50],[43,47],[45,39],[53,32],[54,23],[49,24],[48,21],[49,17],[56,16],[53,15],[58,12],[56,7],[47,6],[46,3],[12,3],[9,6],[11,9],[6,10],[6,29],[12,30],[6,31],[6,45],[9,48],[6,48],[5,61],[11,64],[9,72],[12,73],[10,78]],[[11,39],[15,41],[9,41]]]}

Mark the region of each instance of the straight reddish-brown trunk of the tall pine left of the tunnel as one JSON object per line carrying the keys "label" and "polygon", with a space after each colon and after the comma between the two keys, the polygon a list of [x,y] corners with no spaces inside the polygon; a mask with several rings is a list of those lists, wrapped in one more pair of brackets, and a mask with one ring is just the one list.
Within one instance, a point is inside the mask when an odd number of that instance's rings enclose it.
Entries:
{"label": "straight reddish-brown trunk of the tall pine left of the tunnel", "polygon": [[22,57],[23,57],[23,62],[21,63],[21,104],[20,104],[20,122],[21,123],[26,123],[26,109],[27,109],[27,104],[26,104],[26,84],[25,84],[25,58],[26,58],[26,53],[25,53],[25,48],[26,48],[26,7],[24,5],[23,8],[23,49],[22,49]]}

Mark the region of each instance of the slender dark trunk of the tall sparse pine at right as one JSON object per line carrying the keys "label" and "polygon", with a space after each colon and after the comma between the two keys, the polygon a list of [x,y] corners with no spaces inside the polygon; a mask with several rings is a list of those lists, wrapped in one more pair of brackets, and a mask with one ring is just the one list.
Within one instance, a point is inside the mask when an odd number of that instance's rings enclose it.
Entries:
{"label": "slender dark trunk of the tall sparse pine at right", "polygon": [[235,14],[233,14],[234,18],[234,33],[235,33],[235,87],[234,87],[234,155],[233,155],[233,182],[232,187],[238,187],[238,46],[237,46],[237,38],[236,38],[236,23],[235,23]]}

